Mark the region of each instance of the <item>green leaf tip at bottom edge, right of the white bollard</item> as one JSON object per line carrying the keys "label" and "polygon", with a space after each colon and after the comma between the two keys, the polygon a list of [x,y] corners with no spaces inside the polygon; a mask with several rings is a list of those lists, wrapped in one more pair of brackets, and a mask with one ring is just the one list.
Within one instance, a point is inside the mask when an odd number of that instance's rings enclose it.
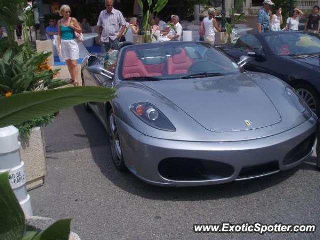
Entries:
{"label": "green leaf tip at bottom edge, right of the white bollard", "polygon": [[58,220],[33,237],[32,240],[68,240],[70,224],[71,219]]}

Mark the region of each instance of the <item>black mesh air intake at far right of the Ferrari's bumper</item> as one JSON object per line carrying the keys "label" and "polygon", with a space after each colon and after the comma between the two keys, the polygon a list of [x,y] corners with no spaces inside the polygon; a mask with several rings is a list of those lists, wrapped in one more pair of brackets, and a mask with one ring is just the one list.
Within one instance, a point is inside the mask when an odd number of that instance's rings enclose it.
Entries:
{"label": "black mesh air intake at far right of the Ferrari's bumper", "polygon": [[312,150],[314,141],[315,134],[303,140],[300,144],[294,147],[288,154],[286,154],[283,164],[289,165],[307,156]]}

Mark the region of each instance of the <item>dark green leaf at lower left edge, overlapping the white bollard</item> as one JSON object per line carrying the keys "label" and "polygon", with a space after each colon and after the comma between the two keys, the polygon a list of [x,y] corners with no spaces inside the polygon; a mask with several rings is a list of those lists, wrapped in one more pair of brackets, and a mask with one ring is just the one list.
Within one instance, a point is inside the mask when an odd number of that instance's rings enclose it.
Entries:
{"label": "dark green leaf at lower left edge, overlapping the white bollard", "polygon": [[0,174],[0,222],[0,239],[22,239],[25,217],[10,186],[8,172]]}

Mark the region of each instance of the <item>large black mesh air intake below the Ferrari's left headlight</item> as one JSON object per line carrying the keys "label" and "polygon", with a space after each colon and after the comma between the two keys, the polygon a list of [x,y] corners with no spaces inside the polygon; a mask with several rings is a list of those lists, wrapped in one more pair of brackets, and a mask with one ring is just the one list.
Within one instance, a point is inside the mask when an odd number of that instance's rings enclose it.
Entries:
{"label": "large black mesh air intake below the Ferrari's left headlight", "polygon": [[222,162],[191,158],[163,159],[158,170],[161,176],[179,181],[222,179],[234,171],[231,165]]}

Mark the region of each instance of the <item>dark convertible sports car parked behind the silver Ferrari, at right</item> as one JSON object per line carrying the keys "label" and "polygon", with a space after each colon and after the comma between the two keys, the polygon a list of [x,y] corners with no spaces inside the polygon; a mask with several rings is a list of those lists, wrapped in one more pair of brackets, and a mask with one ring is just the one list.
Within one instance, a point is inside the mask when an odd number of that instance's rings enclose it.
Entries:
{"label": "dark convertible sports car parked behind the silver Ferrari, at right", "polygon": [[242,35],[235,44],[217,46],[238,61],[254,56],[244,68],[274,75],[294,87],[320,116],[320,38],[300,31]]}

